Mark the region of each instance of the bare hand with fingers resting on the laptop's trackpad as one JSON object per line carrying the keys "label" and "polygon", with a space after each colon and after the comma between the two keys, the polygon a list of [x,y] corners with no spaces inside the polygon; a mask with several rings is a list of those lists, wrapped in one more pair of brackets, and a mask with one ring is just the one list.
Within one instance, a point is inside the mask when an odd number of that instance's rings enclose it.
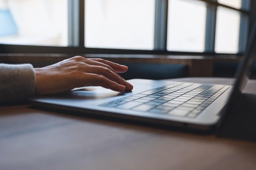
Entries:
{"label": "bare hand with fingers resting on the laptop's trackpad", "polygon": [[103,59],[72,57],[51,66],[34,69],[36,95],[61,93],[86,85],[102,86],[119,92],[131,91],[133,86],[118,74],[127,69],[127,66]]}

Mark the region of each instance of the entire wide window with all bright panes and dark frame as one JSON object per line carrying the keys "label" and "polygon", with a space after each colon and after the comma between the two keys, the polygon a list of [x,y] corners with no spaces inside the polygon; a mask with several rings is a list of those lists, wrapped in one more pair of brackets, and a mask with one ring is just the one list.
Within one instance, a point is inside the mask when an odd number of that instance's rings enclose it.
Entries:
{"label": "entire wide window with all bright panes and dark frame", "polygon": [[241,54],[249,35],[250,4],[250,0],[0,0],[0,49]]}

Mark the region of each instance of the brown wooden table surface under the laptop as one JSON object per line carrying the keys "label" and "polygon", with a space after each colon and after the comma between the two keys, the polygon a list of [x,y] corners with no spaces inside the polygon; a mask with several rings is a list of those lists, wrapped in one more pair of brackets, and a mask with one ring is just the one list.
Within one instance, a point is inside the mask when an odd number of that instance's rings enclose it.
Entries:
{"label": "brown wooden table surface under the laptop", "polygon": [[[175,80],[233,82],[227,78]],[[250,80],[243,93],[249,95],[243,101],[251,101],[256,80]],[[246,113],[240,100],[235,110]],[[251,113],[253,105],[249,105]],[[256,119],[249,122],[256,124]],[[256,128],[248,130],[253,134]],[[255,141],[238,138],[72,116],[28,105],[1,106],[0,170],[255,170]]]}

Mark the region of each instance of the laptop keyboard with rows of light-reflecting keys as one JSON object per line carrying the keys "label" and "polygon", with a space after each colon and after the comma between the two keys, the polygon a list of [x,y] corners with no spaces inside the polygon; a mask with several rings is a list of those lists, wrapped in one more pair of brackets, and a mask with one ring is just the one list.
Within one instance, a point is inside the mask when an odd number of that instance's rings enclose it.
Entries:
{"label": "laptop keyboard with rows of light-reflecting keys", "polygon": [[100,106],[193,118],[228,88],[211,84],[172,83]]}

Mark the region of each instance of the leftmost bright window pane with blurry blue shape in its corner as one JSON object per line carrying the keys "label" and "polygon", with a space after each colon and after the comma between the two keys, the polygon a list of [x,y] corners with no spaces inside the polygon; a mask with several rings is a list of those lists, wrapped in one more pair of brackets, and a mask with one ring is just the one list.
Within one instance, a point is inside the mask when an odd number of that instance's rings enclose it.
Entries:
{"label": "leftmost bright window pane with blurry blue shape in its corner", "polygon": [[67,0],[0,0],[0,44],[67,46]]}

